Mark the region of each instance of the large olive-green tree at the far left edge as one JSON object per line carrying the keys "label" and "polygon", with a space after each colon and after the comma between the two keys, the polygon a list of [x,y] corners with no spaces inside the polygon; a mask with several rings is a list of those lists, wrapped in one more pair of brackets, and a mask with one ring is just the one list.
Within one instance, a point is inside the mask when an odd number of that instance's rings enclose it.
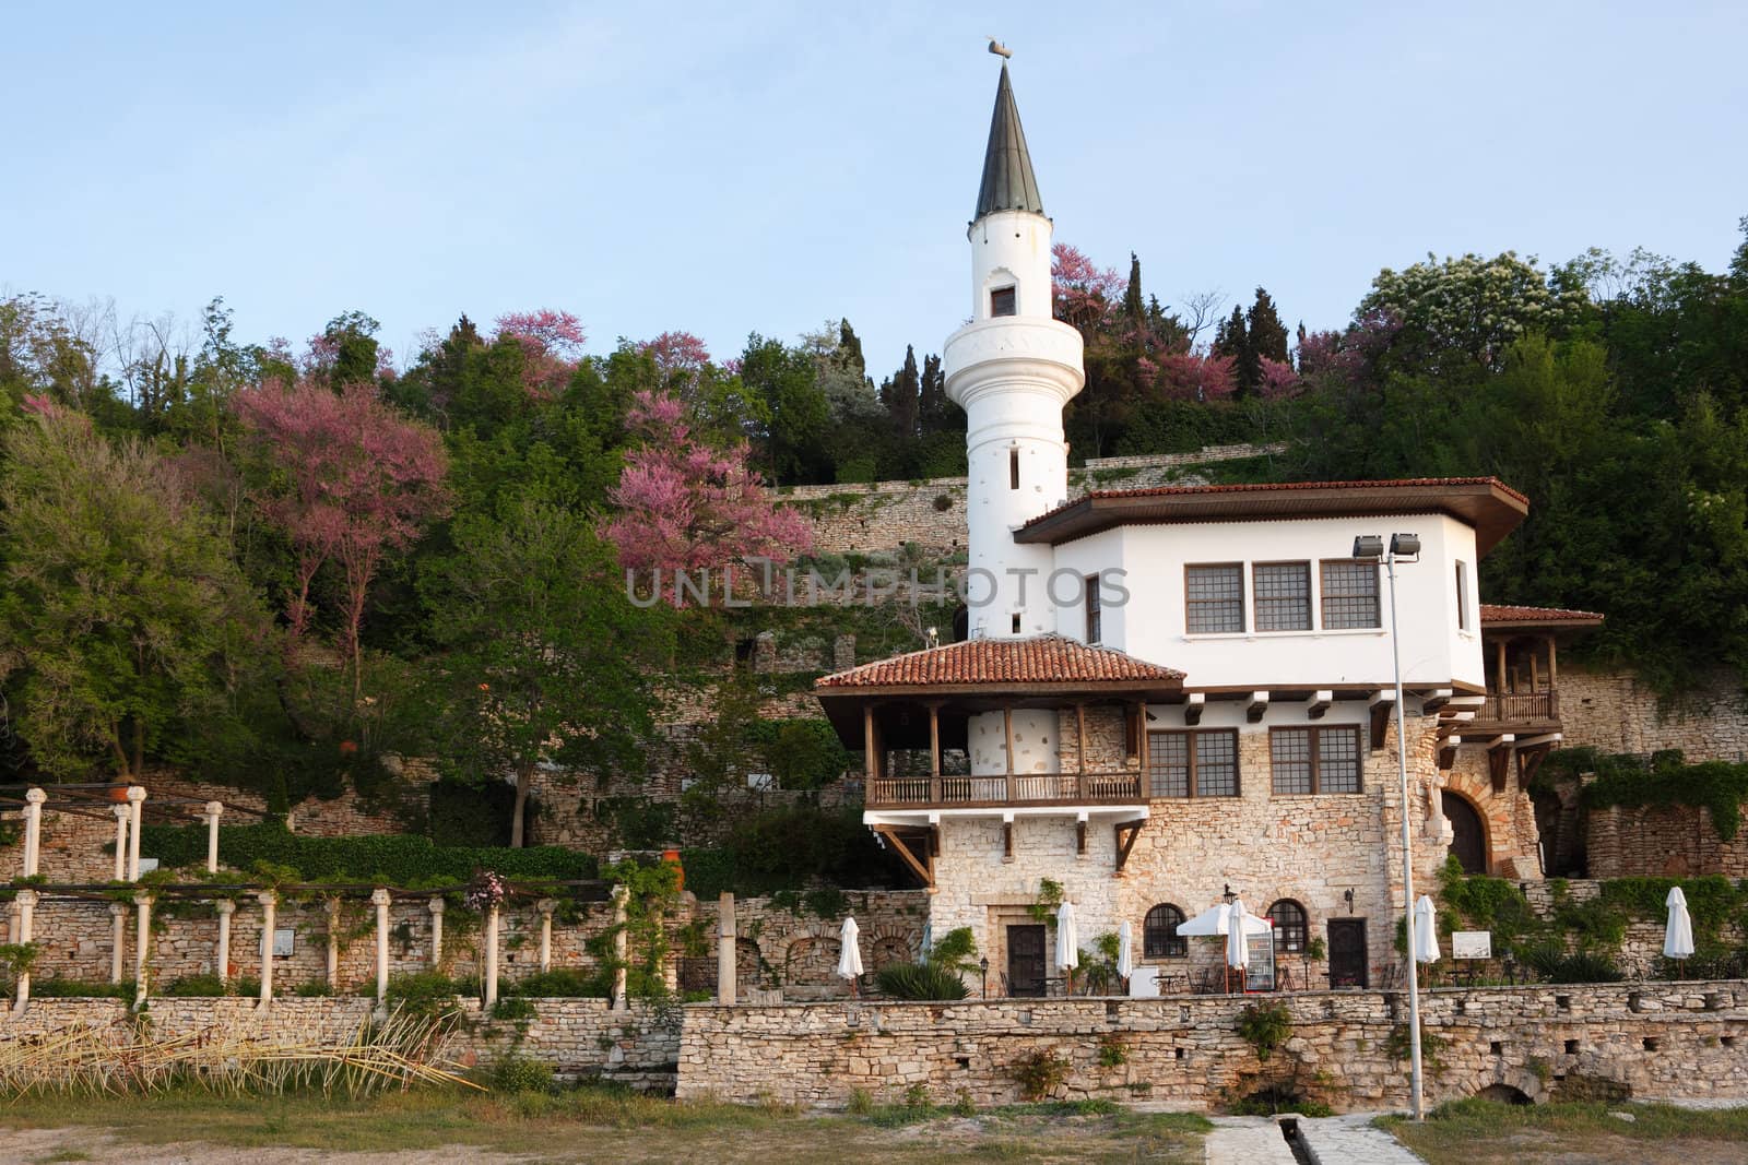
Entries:
{"label": "large olive-green tree at the far left edge", "polygon": [[266,611],[175,468],[59,407],[5,438],[0,679],[59,777],[136,777],[180,720],[220,714],[267,655]]}

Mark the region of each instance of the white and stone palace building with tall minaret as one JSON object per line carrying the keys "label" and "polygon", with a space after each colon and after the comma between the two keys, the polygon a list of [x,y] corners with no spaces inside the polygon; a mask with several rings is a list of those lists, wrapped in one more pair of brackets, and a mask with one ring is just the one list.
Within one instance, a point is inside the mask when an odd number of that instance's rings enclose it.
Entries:
{"label": "white and stone palace building with tall minaret", "polygon": [[[1052,222],[1005,63],[967,238],[970,321],[944,349],[967,414],[965,639],[816,685],[933,933],[970,927],[991,983],[1044,994],[1049,880],[1082,947],[1127,920],[1136,962],[1187,987],[1220,954],[1178,922],[1239,894],[1274,920],[1285,983],[1376,985],[1398,962],[1402,812],[1418,891],[1451,852],[1540,877],[1526,786],[1561,739],[1557,643],[1601,617],[1481,603],[1479,562],[1530,501],[1479,477],[1068,500],[1082,341],[1051,313]],[[1398,533],[1418,554],[1395,562],[1393,639],[1386,566],[1355,540]]]}

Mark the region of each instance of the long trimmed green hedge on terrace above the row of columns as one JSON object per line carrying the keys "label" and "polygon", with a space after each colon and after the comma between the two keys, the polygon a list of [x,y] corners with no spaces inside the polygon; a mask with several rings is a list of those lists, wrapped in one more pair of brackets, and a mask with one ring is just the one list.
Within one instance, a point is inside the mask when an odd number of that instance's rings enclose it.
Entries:
{"label": "long trimmed green hedge on terrace above the row of columns", "polygon": [[[140,847],[166,870],[199,866],[206,861],[206,826],[154,826],[140,831]],[[250,870],[257,861],[290,866],[309,880],[358,879],[390,886],[467,882],[479,870],[507,879],[594,879],[600,863],[561,845],[528,849],[486,845],[435,845],[413,833],[369,837],[304,837],[276,821],[220,826],[218,858],[224,865]]]}

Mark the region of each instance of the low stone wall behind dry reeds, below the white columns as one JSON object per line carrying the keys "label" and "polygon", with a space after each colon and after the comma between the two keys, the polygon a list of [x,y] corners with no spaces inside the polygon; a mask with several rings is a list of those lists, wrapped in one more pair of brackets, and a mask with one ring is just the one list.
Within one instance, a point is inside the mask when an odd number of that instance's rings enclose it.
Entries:
{"label": "low stone wall behind dry reeds, below the white columns", "polygon": [[[680,1031],[642,1004],[615,1011],[605,999],[535,999],[531,1020],[509,1024],[481,1017],[477,1001],[461,1003],[461,1022],[437,1053],[461,1067],[505,1055],[554,1065],[563,1074],[601,1076],[635,1088],[671,1090]],[[369,1020],[369,999],[154,999],[150,1034],[173,1041],[222,1032],[267,1044],[336,1046]],[[119,999],[33,999],[23,1015],[0,1001],[0,1048],[72,1027],[114,1029],[133,1039],[128,1006]]]}

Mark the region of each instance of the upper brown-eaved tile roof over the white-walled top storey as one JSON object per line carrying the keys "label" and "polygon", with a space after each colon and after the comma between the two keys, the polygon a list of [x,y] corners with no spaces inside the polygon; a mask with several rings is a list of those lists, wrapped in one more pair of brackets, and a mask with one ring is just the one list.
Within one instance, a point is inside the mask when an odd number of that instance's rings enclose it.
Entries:
{"label": "upper brown-eaved tile roof over the white-walled top storey", "polygon": [[1475,529],[1475,547],[1486,554],[1528,512],[1530,500],[1496,477],[1150,486],[1094,489],[1031,519],[1014,540],[1059,545],[1113,526],[1159,522],[1449,514]]}

